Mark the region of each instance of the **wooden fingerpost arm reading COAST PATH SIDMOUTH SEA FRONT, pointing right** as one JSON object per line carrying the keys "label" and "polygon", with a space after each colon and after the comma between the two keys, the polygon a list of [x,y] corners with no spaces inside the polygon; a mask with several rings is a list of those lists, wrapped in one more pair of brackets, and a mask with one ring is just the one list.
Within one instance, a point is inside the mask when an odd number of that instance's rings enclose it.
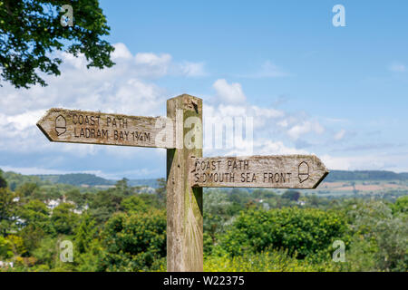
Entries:
{"label": "wooden fingerpost arm reading COAST PATH SIDMOUTH SEA FRONT, pointing right", "polygon": [[191,158],[192,187],[316,189],[329,171],[315,155]]}

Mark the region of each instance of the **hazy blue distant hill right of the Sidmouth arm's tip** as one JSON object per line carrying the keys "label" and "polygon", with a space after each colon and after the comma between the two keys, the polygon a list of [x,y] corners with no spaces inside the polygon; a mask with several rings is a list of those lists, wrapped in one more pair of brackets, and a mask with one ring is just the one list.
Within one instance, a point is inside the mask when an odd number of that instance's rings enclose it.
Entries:
{"label": "hazy blue distant hill right of the Sidmouth arm's tip", "polygon": [[408,173],[395,173],[393,171],[381,170],[330,170],[325,182],[345,181],[345,180],[408,180]]}

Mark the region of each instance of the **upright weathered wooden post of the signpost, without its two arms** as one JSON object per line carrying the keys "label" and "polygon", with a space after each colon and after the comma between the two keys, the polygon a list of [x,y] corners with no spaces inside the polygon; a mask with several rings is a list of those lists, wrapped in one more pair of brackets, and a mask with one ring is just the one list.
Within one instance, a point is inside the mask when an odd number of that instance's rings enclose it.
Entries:
{"label": "upright weathered wooden post of the signpost, without its two arms", "polygon": [[[176,149],[167,150],[167,271],[202,271],[202,189],[189,184],[189,158],[202,156],[202,128],[185,128],[190,117],[198,118],[202,127],[202,100],[187,94],[170,99],[167,116],[177,120],[179,140]],[[183,144],[191,129],[197,132],[194,148]]]}

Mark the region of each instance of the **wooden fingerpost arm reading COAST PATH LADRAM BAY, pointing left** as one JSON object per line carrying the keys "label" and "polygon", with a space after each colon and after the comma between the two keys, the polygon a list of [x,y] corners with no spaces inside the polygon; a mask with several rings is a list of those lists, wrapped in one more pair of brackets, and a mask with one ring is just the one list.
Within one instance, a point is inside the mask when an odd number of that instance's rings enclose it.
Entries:
{"label": "wooden fingerpost arm reading COAST PATH LADRAM BAY, pointing left", "polygon": [[50,109],[37,122],[55,142],[174,148],[174,121],[99,111]]}

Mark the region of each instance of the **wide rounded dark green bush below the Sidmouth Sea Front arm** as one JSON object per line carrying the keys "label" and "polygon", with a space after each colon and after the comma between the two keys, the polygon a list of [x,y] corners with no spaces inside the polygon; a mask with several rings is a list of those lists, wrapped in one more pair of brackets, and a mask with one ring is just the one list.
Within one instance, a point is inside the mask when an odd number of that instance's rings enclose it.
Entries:
{"label": "wide rounded dark green bush below the Sidmouth Sea Front arm", "polygon": [[335,212],[316,208],[280,208],[241,212],[221,247],[232,256],[285,249],[299,258],[327,254],[336,238],[345,234],[345,224]]}

